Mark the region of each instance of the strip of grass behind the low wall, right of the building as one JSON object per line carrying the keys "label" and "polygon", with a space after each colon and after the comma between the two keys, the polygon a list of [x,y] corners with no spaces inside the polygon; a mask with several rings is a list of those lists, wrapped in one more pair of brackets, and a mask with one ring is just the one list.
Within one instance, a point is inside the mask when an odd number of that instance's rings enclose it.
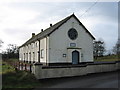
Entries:
{"label": "strip of grass behind the low wall, right of the building", "polygon": [[98,57],[94,61],[118,61],[117,55]]}

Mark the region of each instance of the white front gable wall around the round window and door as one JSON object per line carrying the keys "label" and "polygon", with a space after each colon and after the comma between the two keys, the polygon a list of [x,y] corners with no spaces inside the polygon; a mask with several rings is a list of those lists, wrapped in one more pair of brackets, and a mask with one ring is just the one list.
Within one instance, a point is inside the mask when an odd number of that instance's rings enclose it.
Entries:
{"label": "white front gable wall around the round window and door", "polygon": [[[68,37],[68,30],[72,27],[78,32],[76,40],[71,40]],[[93,39],[73,17],[53,32],[49,40],[50,63],[72,62],[71,59],[67,59],[68,57],[65,58],[62,56],[63,54],[67,54],[67,48],[70,46],[70,43],[76,43],[78,48],[82,48],[80,52],[83,53],[81,62],[93,61]]]}

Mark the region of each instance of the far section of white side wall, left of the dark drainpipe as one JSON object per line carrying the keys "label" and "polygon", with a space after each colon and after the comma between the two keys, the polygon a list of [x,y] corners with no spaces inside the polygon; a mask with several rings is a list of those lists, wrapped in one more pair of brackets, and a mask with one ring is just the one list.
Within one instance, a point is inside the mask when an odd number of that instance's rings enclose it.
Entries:
{"label": "far section of white side wall, left of the dark drainpipe", "polygon": [[35,41],[19,49],[19,60],[38,62],[39,42]]}

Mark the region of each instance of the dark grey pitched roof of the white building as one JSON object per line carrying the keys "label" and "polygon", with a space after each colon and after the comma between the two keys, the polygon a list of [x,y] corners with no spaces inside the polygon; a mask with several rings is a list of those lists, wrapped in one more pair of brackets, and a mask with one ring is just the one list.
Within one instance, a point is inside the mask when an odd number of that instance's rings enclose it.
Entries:
{"label": "dark grey pitched roof of the white building", "polygon": [[[29,43],[32,43],[32,42],[34,42],[34,41],[36,41],[36,40],[38,40],[38,39],[42,39],[42,38],[44,38],[44,37],[46,37],[46,36],[49,36],[52,32],[54,32],[56,29],[58,29],[61,25],[63,25],[63,24],[64,24],[66,21],[68,21],[71,17],[74,17],[74,18],[79,22],[79,24],[83,26],[83,28],[86,30],[86,32],[87,32],[93,39],[95,39],[95,38],[93,37],[93,35],[92,35],[92,34],[85,28],[85,26],[79,21],[79,19],[78,19],[74,14],[72,14],[72,15],[66,17],[65,19],[59,21],[58,23],[54,24],[53,26],[47,28],[47,29],[44,30],[43,32],[40,32],[40,33],[38,33],[37,35],[35,35],[34,37],[30,38],[30,39],[29,39],[28,41],[26,41],[22,46],[27,45],[27,44],[29,44]],[[22,46],[20,46],[20,47],[22,47]],[[20,48],[20,47],[19,47],[19,48]]]}

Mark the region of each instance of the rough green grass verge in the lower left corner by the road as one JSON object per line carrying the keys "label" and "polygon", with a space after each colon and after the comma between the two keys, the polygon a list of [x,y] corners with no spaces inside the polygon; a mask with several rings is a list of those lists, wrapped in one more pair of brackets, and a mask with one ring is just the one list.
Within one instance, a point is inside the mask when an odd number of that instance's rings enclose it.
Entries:
{"label": "rough green grass verge in the lower left corner by the road", "polygon": [[2,88],[35,88],[42,84],[27,71],[15,71],[7,62],[2,64]]}

